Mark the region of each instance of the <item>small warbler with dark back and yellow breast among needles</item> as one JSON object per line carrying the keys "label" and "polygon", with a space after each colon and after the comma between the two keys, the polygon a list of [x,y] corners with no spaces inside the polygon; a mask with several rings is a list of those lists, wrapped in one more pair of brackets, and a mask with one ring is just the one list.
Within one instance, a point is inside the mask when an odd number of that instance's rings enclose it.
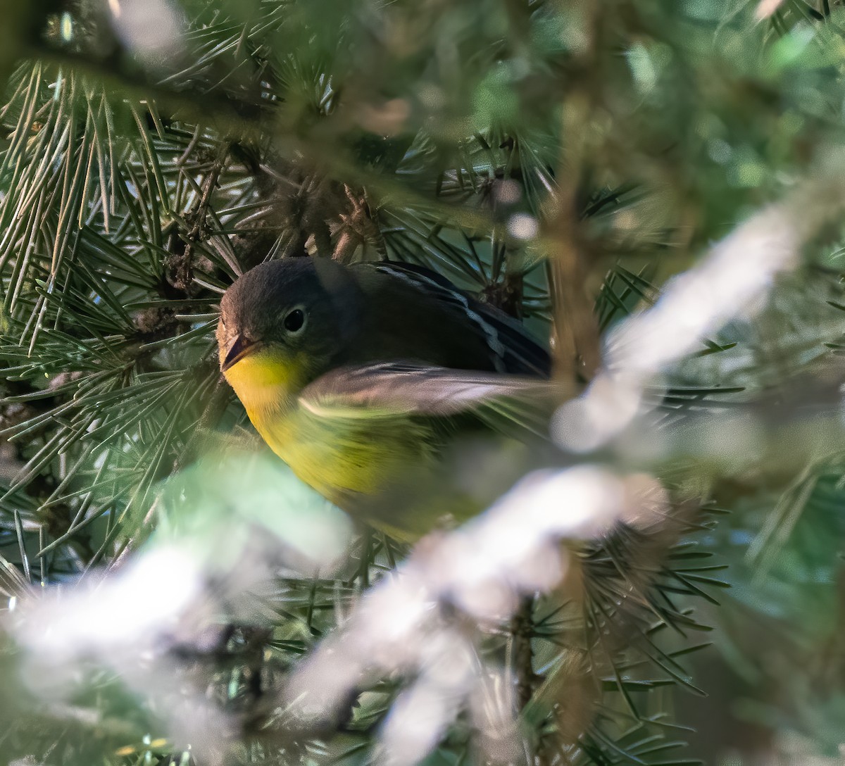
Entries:
{"label": "small warbler with dark back and yellow breast among needles", "polygon": [[[223,296],[217,341],[275,454],[403,541],[482,510],[523,470],[527,434],[545,429],[548,352],[416,265],[262,263]],[[508,438],[482,438],[493,433]]]}

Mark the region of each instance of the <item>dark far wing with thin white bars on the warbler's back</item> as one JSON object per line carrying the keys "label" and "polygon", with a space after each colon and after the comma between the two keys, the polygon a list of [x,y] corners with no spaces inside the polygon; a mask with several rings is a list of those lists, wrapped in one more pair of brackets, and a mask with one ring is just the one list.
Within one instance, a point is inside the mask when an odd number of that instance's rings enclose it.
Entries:
{"label": "dark far wing with thin white bars on the warbler's back", "polygon": [[381,261],[361,265],[403,280],[463,313],[482,333],[497,371],[543,378],[551,374],[548,351],[532,339],[521,323],[498,308],[458,290],[441,274],[413,263]]}

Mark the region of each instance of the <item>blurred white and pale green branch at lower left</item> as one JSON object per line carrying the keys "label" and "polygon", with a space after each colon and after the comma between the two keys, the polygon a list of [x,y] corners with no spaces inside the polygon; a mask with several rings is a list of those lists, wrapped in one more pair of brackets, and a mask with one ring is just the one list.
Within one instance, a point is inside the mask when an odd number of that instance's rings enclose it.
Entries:
{"label": "blurred white and pale green branch at lower left", "polygon": [[350,527],[266,456],[200,461],[160,501],[154,538],[108,573],[35,589],[0,559],[9,597],[0,631],[25,650],[24,682],[37,698],[72,698],[85,669],[110,669],[161,715],[174,745],[215,766],[243,721],[208,698],[203,656],[225,644],[226,619],[264,626],[253,595],[280,568],[334,572]]}

